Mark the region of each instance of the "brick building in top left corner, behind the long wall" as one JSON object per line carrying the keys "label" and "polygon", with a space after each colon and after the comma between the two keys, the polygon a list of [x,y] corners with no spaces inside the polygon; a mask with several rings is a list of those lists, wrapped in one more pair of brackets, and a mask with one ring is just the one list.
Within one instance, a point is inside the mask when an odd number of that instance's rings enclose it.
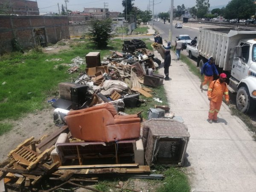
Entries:
{"label": "brick building in top left corner, behind the long wall", "polygon": [[1,14],[39,15],[36,1],[28,0],[0,0]]}

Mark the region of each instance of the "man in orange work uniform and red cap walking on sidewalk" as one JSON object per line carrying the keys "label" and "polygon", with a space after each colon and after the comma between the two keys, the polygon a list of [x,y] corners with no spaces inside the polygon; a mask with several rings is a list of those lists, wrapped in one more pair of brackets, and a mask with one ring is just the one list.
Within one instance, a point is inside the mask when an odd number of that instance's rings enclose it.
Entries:
{"label": "man in orange work uniform and red cap walking on sidewalk", "polygon": [[220,74],[220,78],[212,81],[209,85],[207,96],[210,101],[210,109],[208,115],[208,122],[218,123],[217,115],[221,108],[222,97],[225,96],[227,104],[229,103],[229,95],[227,89],[227,83],[225,82],[227,75],[225,73]]}

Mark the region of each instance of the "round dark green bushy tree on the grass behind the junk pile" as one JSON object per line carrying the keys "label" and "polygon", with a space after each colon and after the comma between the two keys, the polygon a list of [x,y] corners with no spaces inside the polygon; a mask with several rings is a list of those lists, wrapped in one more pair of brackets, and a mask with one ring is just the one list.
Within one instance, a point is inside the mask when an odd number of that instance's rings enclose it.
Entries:
{"label": "round dark green bushy tree on the grass behind the junk pile", "polygon": [[93,20],[89,29],[90,41],[93,41],[98,48],[107,47],[108,40],[112,38],[111,32],[112,21]]}

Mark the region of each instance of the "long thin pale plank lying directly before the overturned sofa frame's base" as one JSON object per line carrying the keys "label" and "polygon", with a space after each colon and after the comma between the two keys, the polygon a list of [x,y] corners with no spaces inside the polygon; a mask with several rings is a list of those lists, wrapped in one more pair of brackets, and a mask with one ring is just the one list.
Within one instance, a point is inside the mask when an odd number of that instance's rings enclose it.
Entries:
{"label": "long thin pale plank lying directly before the overturned sofa frame's base", "polygon": [[58,169],[90,169],[100,167],[135,167],[139,166],[138,163],[133,164],[104,164],[104,165],[77,165],[77,166],[59,166]]}

